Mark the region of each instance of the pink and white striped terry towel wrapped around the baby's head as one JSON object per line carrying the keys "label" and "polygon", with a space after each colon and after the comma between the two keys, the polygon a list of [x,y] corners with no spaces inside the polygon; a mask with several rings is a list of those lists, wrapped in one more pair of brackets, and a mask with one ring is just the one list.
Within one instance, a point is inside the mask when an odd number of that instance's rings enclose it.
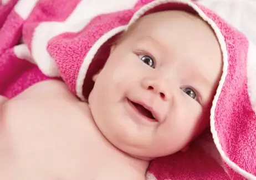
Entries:
{"label": "pink and white striped terry towel wrapped around the baby's head", "polygon": [[0,94],[12,98],[60,77],[86,100],[91,77],[103,67],[116,35],[142,15],[173,9],[199,14],[211,25],[223,52],[223,75],[211,109],[212,134],[203,134],[186,152],[153,160],[147,179],[256,179],[255,46],[195,2],[2,1]]}

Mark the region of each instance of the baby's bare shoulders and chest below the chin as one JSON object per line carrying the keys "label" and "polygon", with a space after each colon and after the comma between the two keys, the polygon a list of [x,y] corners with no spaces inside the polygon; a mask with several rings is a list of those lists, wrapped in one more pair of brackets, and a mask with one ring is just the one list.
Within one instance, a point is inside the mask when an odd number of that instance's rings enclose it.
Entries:
{"label": "baby's bare shoulders and chest below the chin", "polygon": [[2,98],[0,179],[145,179],[144,161],[112,146],[64,83]]}

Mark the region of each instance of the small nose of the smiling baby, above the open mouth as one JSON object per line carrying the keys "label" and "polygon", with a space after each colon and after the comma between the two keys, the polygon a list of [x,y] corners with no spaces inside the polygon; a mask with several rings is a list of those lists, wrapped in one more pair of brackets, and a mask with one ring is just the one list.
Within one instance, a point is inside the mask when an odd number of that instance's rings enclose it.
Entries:
{"label": "small nose of the smiling baby, above the open mouth", "polygon": [[142,81],[142,87],[147,91],[152,91],[157,94],[162,100],[168,100],[170,98],[170,92],[167,86],[166,81],[157,78],[145,78],[144,81]]}

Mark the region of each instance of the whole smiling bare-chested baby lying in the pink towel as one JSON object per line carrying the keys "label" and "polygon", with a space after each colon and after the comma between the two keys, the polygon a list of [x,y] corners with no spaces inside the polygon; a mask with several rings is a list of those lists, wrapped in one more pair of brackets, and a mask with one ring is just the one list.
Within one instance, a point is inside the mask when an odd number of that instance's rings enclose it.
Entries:
{"label": "whole smiling bare-chested baby lying in the pink towel", "polygon": [[1,97],[0,179],[145,179],[208,126],[221,70],[201,18],[145,15],[112,45],[88,104],[58,80]]}

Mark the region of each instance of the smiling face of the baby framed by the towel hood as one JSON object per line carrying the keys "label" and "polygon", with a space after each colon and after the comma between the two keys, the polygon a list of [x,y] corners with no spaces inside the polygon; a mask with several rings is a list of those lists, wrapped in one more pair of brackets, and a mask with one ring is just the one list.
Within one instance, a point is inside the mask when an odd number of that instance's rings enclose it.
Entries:
{"label": "smiling face of the baby framed by the towel hood", "polygon": [[130,155],[175,153],[208,125],[221,68],[218,41],[201,19],[146,15],[95,76],[91,113],[106,139]]}

